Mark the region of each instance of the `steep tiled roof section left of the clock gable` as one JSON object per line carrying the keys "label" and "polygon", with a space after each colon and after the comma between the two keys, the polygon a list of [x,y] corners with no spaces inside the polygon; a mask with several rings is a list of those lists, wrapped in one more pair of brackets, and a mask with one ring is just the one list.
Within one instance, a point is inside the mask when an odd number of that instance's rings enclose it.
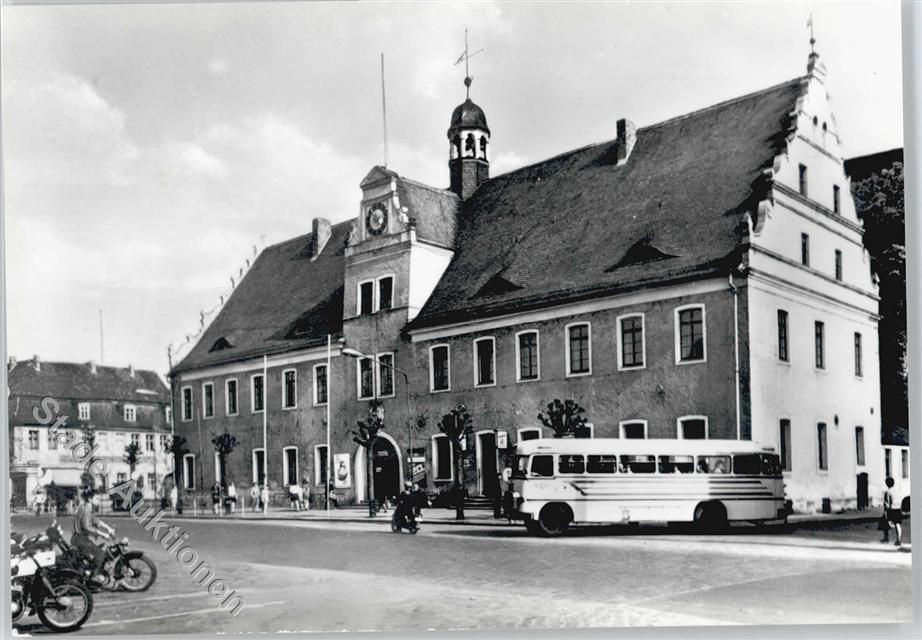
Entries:
{"label": "steep tiled roof section left of the clock gable", "polygon": [[311,258],[312,234],[263,250],[173,372],[318,346],[326,344],[327,334],[341,334],[351,225],[334,225],[316,259]]}

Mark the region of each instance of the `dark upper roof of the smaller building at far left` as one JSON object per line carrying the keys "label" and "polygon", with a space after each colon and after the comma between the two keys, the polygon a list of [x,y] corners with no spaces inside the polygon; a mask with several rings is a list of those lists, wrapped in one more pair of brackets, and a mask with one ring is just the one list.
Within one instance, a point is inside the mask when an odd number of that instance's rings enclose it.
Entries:
{"label": "dark upper roof of the smaller building at far left", "polygon": [[31,360],[19,362],[9,372],[10,396],[56,400],[121,400],[126,402],[169,403],[170,394],[163,379],[154,371],[96,366],[72,362],[41,362],[38,369]]}

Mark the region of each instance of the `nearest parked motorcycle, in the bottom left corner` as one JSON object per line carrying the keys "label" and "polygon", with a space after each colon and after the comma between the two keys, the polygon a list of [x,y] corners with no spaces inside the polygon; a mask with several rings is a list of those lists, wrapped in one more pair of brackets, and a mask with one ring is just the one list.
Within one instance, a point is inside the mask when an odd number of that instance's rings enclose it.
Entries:
{"label": "nearest parked motorcycle, in the bottom left corner", "polygon": [[13,537],[10,545],[13,622],[37,613],[42,624],[56,633],[83,626],[93,613],[93,595],[80,574],[57,565],[48,537]]}

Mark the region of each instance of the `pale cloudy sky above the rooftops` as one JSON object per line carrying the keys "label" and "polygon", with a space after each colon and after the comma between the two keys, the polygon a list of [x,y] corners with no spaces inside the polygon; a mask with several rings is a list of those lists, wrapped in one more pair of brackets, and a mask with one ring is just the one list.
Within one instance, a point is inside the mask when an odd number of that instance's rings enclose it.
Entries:
{"label": "pale cloudy sky above the rooftops", "polygon": [[[448,184],[471,98],[491,174],[802,75],[845,157],[902,146],[896,3],[2,7],[7,351],[168,370],[260,248],[359,213],[384,164]],[[100,340],[100,316],[104,339]],[[185,349],[188,349],[188,344]],[[185,352],[185,351],[183,351]],[[182,353],[180,353],[180,357]]]}

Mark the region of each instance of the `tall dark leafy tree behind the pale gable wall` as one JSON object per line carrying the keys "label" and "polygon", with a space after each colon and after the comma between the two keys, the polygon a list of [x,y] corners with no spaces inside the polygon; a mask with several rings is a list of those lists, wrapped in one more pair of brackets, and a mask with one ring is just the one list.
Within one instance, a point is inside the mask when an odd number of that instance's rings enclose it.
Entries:
{"label": "tall dark leafy tree behind the pale gable wall", "polygon": [[853,183],[852,193],[864,223],[864,246],[880,280],[881,423],[892,434],[909,425],[903,163]]}

